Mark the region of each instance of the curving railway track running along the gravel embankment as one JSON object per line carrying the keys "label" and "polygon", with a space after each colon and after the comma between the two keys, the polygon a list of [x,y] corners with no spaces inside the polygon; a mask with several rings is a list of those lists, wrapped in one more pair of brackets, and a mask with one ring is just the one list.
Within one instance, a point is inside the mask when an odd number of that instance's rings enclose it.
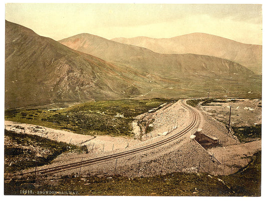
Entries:
{"label": "curving railway track running along the gravel embankment", "polygon": [[79,168],[79,167],[83,167],[83,166],[87,166],[87,165],[91,165],[91,164],[95,164],[95,163],[99,163],[99,162],[108,161],[111,159],[116,159],[119,157],[124,157],[127,155],[132,155],[135,153],[139,153],[142,151],[146,151],[146,150],[167,144],[167,143],[181,137],[182,135],[189,132],[190,130],[194,129],[194,127],[198,123],[198,119],[199,119],[198,113],[194,110],[193,107],[187,105],[185,102],[186,102],[186,100],[181,100],[181,104],[185,108],[187,108],[192,114],[191,123],[187,127],[185,127],[183,130],[179,131],[178,133],[176,133],[176,134],[174,134],[174,135],[172,135],[166,139],[163,139],[161,141],[158,141],[158,142],[146,145],[146,146],[142,146],[139,148],[135,148],[135,149],[131,149],[131,150],[115,153],[115,154],[110,154],[110,155],[106,155],[106,156],[102,156],[102,157],[98,157],[98,158],[93,158],[93,159],[88,159],[88,160],[84,160],[84,161],[79,161],[79,162],[75,162],[75,163],[69,163],[69,164],[54,166],[54,167],[50,167],[50,168],[44,168],[44,169],[40,169],[38,171],[20,173],[19,175],[34,174],[34,173],[38,173],[40,175],[40,174],[62,172],[62,171],[66,171],[66,170],[70,170],[70,169],[74,169],[74,168]]}

